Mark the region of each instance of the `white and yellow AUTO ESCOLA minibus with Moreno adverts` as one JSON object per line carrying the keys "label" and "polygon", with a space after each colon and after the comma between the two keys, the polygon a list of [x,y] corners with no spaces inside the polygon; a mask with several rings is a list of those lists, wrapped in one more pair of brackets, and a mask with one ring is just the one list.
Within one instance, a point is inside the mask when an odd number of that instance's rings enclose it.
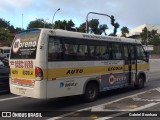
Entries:
{"label": "white and yellow AUTO ESCOLA minibus with Moreno adverts", "polygon": [[102,91],[141,89],[149,72],[138,40],[43,28],[15,36],[9,65],[13,94],[38,99],[81,95],[87,102]]}

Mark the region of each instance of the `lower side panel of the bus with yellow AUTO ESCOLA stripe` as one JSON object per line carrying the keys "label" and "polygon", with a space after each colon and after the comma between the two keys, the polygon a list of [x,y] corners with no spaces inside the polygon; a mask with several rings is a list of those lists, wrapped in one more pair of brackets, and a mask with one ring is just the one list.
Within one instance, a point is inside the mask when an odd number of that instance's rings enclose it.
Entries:
{"label": "lower side panel of the bus with yellow AUTO ESCOLA stripe", "polygon": [[[100,91],[121,88],[128,84],[127,75],[123,74],[123,61],[120,60],[78,63],[68,61],[67,64],[49,62],[48,66],[48,98],[83,94],[84,85],[88,80],[98,80]],[[114,76],[114,80],[109,83],[110,76]],[[58,94],[54,94],[52,89]]]}

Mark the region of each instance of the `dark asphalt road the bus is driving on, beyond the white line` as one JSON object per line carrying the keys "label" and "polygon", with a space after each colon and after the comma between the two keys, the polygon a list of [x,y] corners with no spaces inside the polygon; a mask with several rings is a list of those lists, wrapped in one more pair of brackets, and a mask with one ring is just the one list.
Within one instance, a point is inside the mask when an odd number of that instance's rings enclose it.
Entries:
{"label": "dark asphalt road the bus is driving on, beyond the white line", "polygon": [[[91,108],[94,108],[94,106],[97,106],[97,105],[103,105],[103,104],[118,100],[120,98],[125,98],[127,96],[135,95],[141,92],[149,91],[151,89],[160,87],[160,80],[159,80],[160,79],[160,75],[159,75],[160,61],[152,60],[150,68],[151,68],[151,73],[149,74],[149,82],[146,83],[144,89],[141,89],[141,90],[135,90],[134,88],[129,87],[124,89],[108,91],[108,92],[102,93],[99,99],[92,103],[82,102],[79,96],[39,100],[39,99],[16,96],[13,94],[1,93],[0,94],[0,111],[1,112],[3,111],[42,112],[43,116],[47,116],[47,117],[41,118],[41,119],[49,119],[53,116],[59,116],[59,115],[74,112],[77,110],[83,110],[83,109],[90,110]],[[152,106],[147,109],[154,110],[155,109],[154,107],[155,106]],[[67,117],[62,119],[70,119],[70,118]],[[73,119],[75,119],[75,117]],[[94,115],[91,115],[90,118],[79,117],[78,119],[83,120],[83,119],[98,119],[98,118],[96,118]],[[110,118],[110,119],[113,119],[113,118]]]}

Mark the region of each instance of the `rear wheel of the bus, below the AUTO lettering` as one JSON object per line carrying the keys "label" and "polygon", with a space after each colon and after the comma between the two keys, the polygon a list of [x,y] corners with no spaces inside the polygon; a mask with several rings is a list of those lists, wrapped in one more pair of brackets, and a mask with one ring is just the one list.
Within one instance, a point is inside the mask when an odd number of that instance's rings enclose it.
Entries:
{"label": "rear wheel of the bus, below the AUTO lettering", "polygon": [[99,94],[98,84],[95,82],[89,82],[86,85],[83,97],[85,102],[93,102],[97,99],[98,94]]}

